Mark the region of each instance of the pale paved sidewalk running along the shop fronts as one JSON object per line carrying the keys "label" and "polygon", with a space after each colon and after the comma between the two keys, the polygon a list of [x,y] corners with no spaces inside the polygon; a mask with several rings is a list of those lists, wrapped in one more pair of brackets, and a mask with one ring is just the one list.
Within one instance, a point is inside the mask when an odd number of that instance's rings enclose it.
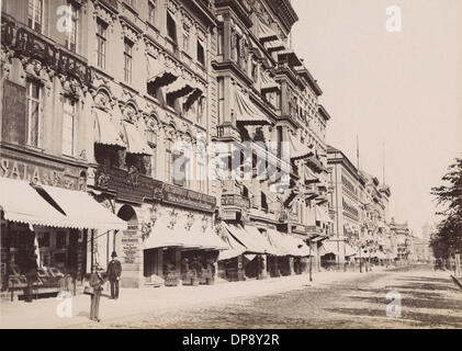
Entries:
{"label": "pale paved sidewalk running along the shop fronts", "polygon": [[[385,268],[374,268],[373,272],[320,272],[308,275],[292,275],[262,281],[223,282],[215,285],[123,288],[117,301],[101,297],[100,318],[102,320],[135,316],[153,310],[168,310],[178,307],[211,304],[223,299],[264,296],[274,293],[319,286],[337,281],[374,274]],[[0,302],[0,329],[5,328],[64,328],[89,322],[90,296],[77,295],[71,299],[71,316],[58,317],[57,308],[63,299],[55,297],[24,302]]]}

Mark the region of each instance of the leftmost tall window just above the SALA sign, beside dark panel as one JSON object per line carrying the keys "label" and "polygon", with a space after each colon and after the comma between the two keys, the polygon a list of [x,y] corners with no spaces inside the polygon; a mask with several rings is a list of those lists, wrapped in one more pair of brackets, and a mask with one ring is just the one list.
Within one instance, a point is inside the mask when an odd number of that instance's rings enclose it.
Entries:
{"label": "leftmost tall window just above the SALA sign, beside dark panel", "polygon": [[42,109],[42,87],[32,81],[27,81],[27,145],[38,147],[41,109]]}

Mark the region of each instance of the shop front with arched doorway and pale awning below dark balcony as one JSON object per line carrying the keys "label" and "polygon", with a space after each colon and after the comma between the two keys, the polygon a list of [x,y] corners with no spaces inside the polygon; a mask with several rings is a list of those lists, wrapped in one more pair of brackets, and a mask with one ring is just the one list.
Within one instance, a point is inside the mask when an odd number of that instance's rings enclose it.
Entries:
{"label": "shop front with arched doorway and pale awning below dark balcony", "polygon": [[97,171],[94,190],[101,199],[112,194],[117,216],[128,223],[113,245],[109,240],[109,251],[121,258],[122,286],[215,281],[218,252],[228,246],[215,230],[214,196],[103,166]]}

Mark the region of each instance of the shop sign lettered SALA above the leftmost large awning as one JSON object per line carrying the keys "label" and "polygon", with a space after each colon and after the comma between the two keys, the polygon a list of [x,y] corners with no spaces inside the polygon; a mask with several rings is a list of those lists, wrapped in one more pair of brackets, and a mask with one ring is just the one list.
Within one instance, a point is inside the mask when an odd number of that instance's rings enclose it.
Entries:
{"label": "shop sign lettered SALA above the leftmost large awning", "polygon": [[83,190],[86,180],[80,177],[81,170],[78,167],[66,167],[58,162],[15,155],[14,151],[5,149],[1,150],[0,177],[34,184]]}

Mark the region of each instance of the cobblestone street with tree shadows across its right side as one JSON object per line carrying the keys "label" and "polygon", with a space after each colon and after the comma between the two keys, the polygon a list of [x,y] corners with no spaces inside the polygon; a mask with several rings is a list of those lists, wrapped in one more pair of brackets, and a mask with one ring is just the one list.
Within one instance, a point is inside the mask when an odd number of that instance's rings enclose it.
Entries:
{"label": "cobblestone street with tree shadows across its right side", "polygon": [[[402,316],[387,317],[386,293],[402,297]],[[258,297],[169,308],[83,328],[461,328],[462,292],[450,272],[427,267],[369,272],[349,280]]]}

